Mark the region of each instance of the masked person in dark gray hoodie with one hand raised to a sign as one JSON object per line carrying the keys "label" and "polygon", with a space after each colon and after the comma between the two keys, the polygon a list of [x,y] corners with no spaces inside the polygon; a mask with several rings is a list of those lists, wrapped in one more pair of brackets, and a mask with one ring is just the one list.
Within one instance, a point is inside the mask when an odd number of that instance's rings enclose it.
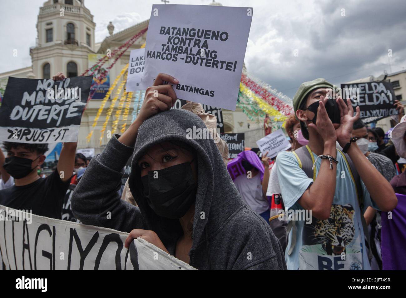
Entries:
{"label": "masked person in dark gray hoodie with one hand raised to a sign", "polygon": [[[141,237],[197,269],[286,270],[281,244],[241,199],[213,138],[189,137],[207,130],[203,121],[170,110],[178,83],[157,76],[134,123],[89,163],[73,213],[84,224],[130,232],[126,247]],[[133,153],[129,186],[138,207],[117,193]]]}

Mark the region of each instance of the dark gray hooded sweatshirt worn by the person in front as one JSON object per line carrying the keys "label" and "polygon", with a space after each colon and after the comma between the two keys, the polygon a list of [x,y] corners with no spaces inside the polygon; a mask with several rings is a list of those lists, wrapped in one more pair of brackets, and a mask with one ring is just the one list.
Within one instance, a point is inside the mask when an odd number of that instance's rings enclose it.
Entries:
{"label": "dark gray hooded sweatshirt worn by the person in front", "polygon": [[[261,216],[242,200],[213,139],[188,140],[187,128],[205,129],[186,110],[169,110],[147,119],[134,147],[114,135],[104,151],[89,163],[72,196],[73,214],[86,225],[130,232],[152,230],[171,255],[183,234],[179,220],[158,216],[143,197],[138,159],[157,143],[179,140],[198,155],[198,186],[193,221],[190,265],[200,270],[286,270],[281,244]],[[132,153],[130,190],[138,207],[120,199],[123,168]],[[107,218],[111,212],[111,219]]]}

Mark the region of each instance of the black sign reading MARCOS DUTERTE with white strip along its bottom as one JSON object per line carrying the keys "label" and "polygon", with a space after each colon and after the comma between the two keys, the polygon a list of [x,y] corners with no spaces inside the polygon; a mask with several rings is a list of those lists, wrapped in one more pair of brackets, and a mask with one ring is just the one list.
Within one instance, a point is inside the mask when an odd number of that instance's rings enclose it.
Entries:
{"label": "black sign reading MARCOS DUTERTE with white strip along its bottom", "polygon": [[0,140],[76,142],[92,76],[52,79],[10,77],[0,108]]}

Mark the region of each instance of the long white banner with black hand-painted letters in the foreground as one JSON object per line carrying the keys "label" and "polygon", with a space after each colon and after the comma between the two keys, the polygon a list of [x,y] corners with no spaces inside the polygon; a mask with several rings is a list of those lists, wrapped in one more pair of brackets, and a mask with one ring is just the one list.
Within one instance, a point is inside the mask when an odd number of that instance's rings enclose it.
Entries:
{"label": "long white banner with black hand-painted letters in the foreground", "polygon": [[[14,219],[14,220],[13,220]],[[193,270],[128,233],[0,205],[0,270]]]}

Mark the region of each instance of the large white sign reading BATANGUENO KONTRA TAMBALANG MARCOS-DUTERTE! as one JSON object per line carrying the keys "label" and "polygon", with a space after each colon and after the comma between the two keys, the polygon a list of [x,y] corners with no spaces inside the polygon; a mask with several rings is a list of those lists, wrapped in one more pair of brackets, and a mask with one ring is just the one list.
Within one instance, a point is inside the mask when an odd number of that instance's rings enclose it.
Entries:
{"label": "large white sign reading BATANGUENO KONTRA TAMBALANG MARCOS-DUTERTE!", "polygon": [[178,98],[235,110],[252,8],[153,5],[142,89],[158,73],[179,80]]}

